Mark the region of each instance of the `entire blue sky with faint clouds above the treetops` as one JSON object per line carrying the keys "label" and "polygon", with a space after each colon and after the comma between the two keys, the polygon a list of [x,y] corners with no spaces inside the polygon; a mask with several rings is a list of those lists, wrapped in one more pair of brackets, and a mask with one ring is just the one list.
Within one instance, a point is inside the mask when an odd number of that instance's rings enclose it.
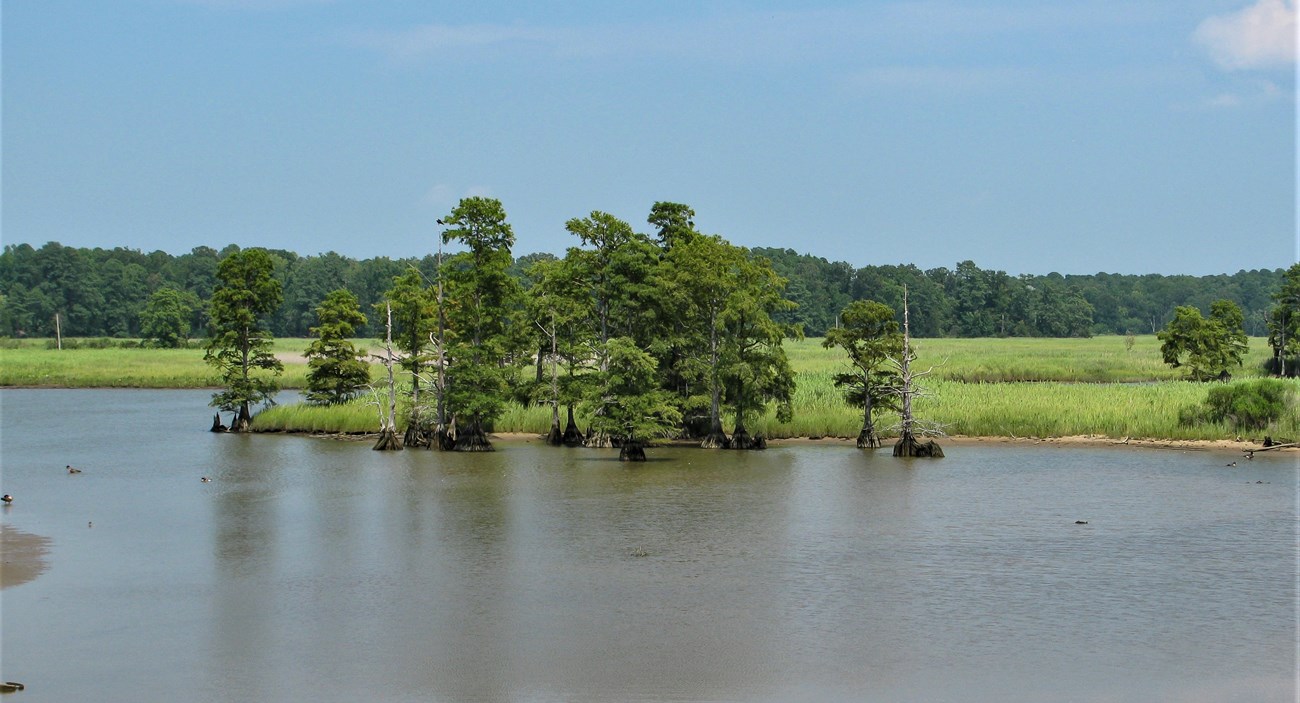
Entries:
{"label": "entire blue sky with faint clouds above the treetops", "polygon": [[1295,0],[5,0],[0,242],[424,256],[465,196],[854,266],[1218,274],[1296,230]]}

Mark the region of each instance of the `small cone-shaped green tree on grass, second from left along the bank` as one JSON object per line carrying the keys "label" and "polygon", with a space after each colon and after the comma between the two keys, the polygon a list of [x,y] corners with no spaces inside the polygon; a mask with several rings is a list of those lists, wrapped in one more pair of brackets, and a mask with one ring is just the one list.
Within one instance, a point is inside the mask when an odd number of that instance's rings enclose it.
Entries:
{"label": "small cone-shaped green tree on grass, second from left along the bank", "polygon": [[334,405],[356,398],[370,382],[370,366],[351,337],[365,324],[356,296],[347,288],[330,291],[316,308],[316,338],[307,346],[307,402]]}

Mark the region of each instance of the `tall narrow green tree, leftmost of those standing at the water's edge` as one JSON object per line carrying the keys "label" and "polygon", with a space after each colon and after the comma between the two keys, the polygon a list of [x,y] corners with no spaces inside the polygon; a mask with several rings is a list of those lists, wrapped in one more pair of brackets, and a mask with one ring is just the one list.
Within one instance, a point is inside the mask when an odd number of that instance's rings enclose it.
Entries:
{"label": "tall narrow green tree, leftmost of those standing at the water's edge", "polygon": [[[217,265],[217,287],[209,304],[207,352],[203,359],[221,373],[225,389],[211,405],[235,412],[231,431],[247,431],[250,407],[269,404],[285,366],[272,353],[266,318],[280,307],[281,283],[266,249],[234,249]],[[265,373],[255,373],[265,372]]]}

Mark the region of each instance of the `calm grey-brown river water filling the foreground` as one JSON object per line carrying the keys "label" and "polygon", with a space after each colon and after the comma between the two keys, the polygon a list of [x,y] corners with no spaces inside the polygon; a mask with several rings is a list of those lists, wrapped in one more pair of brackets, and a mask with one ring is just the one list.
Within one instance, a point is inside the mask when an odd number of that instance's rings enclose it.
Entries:
{"label": "calm grey-brown river water filling the foreground", "polygon": [[217,435],[207,398],[0,392],[0,518],[51,538],[0,596],[26,703],[1295,699],[1295,454],[628,467]]}

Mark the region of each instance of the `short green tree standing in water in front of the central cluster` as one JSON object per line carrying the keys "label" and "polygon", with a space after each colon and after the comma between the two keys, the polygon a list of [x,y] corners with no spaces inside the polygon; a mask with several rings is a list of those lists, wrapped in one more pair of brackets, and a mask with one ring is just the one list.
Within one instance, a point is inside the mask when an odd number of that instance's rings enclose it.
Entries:
{"label": "short green tree standing in water in front of the central cluster", "polygon": [[681,413],[659,387],[654,356],[627,337],[615,337],[606,347],[608,368],[598,374],[597,392],[585,403],[592,431],[618,438],[620,460],[645,461],[646,442],[671,434]]}

